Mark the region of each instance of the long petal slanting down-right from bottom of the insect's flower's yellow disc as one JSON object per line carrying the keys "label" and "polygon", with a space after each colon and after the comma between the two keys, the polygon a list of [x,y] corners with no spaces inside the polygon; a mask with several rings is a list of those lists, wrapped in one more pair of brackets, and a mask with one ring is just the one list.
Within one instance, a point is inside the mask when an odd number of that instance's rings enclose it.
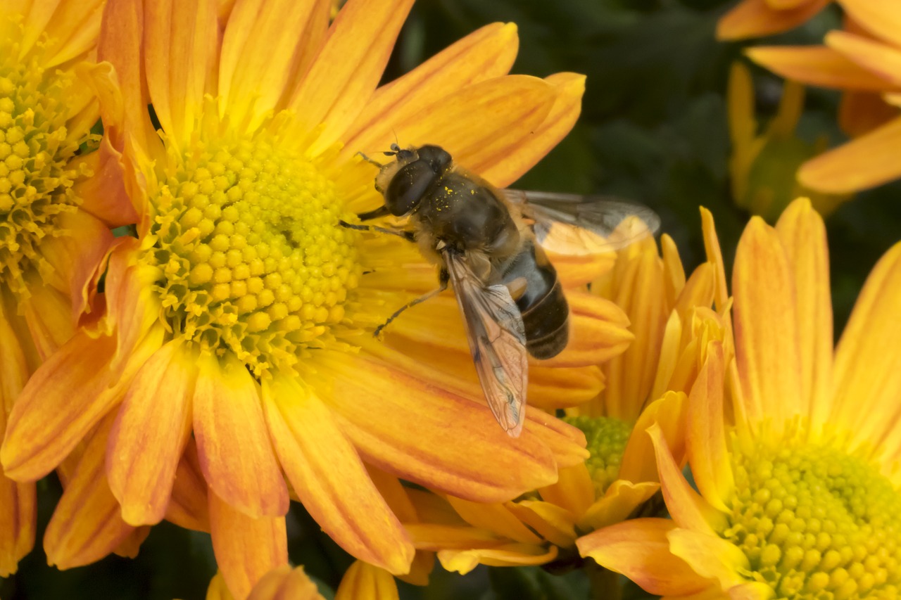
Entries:
{"label": "long petal slanting down-right from bottom of the insect's flower's yellow disc", "polygon": [[414,548],[329,409],[292,377],[263,382],[278,459],[306,510],[353,556],[402,574]]}

